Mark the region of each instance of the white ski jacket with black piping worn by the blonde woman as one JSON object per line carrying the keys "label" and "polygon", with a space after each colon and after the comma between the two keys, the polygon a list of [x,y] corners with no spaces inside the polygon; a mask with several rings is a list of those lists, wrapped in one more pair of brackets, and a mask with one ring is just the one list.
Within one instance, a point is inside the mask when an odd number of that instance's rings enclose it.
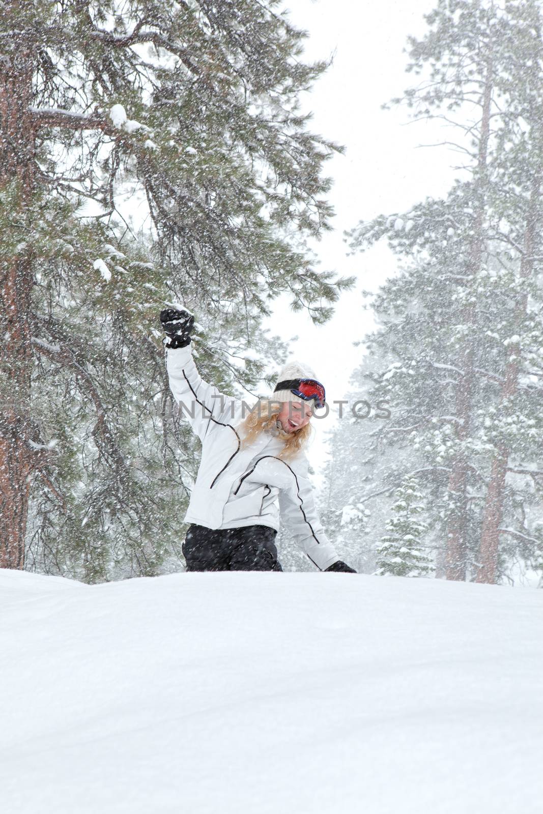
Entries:
{"label": "white ski jacket with black piping worn by the blonde woman", "polygon": [[279,519],[309,559],[324,571],[339,560],[318,519],[304,453],[283,461],[282,440],[263,432],[243,447],[243,401],[223,396],[203,381],[186,348],[166,350],[169,386],[182,416],[202,442],[186,523],[208,528],[263,525]]}

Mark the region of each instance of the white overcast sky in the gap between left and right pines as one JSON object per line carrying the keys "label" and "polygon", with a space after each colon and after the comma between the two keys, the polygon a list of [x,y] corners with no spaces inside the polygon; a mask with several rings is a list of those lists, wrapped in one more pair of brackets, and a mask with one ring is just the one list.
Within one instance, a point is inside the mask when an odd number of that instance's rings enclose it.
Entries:
{"label": "white overcast sky in the gap between left and right pines", "polygon": [[[404,48],[409,34],[421,36],[423,15],[434,0],[286,0],[290,19],[308,31],[305,61],[333,63],[313,92],[305,94],[304,110],[313,112],[312,129],[346,147],[326,164],[334,179],[329,196],[336,217],[334,231],[313,246],[323,269],[356,275],[356,289],[346,292],[326,325],[316,327],[305,314],[294,314],[287,298],[278,300],[265,326],[288,339],[292,357],[313,367],[326,387],[327,400],[341,399],[363,348],[353,347],[373,326],[371,312],[362,309],[361,290],[375,290],[394,272],[386,247],[348,257],[344,230],[380,212],[401,212],[427,195],[443,195],[454,173],[453,156],[444,147],[422,144],[444,140],[443,130],[427,122],[409,122],[405,108],[383,111],[381,105],[414,81],[405,73]],[[313,423],[316,437],[309,458],[316,473],[326,454],[323,432],[335,419]],[[319,479],[317,478],[317,483]]]}

